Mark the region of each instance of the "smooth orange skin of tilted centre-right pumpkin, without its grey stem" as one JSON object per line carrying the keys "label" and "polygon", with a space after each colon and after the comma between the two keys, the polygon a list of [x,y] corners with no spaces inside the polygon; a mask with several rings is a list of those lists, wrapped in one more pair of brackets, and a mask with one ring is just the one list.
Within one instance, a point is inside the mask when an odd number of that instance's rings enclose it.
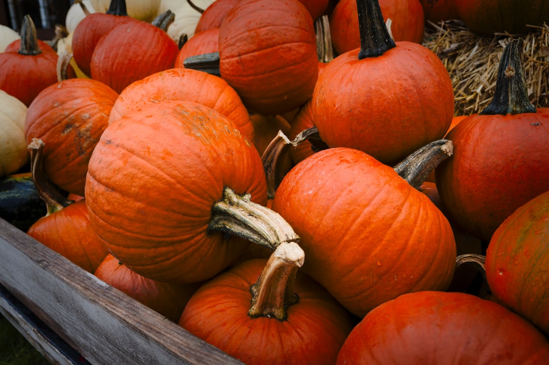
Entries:
{"label": "smooth orange skin of tilted centre-right pumpkin, without its grey stem", "polygon": [[301,238],[302,269],[357,316],[401,294],[450,284],[456,243],[446,217],[361,151],[330,148],[301,161],[282,180],[272,209]]}

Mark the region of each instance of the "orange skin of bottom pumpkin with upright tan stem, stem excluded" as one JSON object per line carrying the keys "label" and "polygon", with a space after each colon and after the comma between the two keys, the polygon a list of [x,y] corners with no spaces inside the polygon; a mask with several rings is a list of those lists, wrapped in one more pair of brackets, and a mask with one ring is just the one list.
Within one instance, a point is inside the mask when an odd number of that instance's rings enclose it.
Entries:
{"label": "orange skin of bottom pumpkin with upright tan stem, stem excluded", "polygon": [[250,286],[267,260],[240,263],[205,283],[189,300],[181,327],[246,364],[333,364],[351,330],[349,313],[298,272],[299,302],[288,319],[248,316]]}

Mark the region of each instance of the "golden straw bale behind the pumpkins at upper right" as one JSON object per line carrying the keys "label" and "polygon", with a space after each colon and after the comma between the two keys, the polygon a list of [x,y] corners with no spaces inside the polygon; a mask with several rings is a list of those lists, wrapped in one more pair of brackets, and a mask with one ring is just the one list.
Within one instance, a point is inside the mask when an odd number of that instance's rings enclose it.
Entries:
{"label": "golden straw bale behind the pumpkins at upper right", "polygon": [[497,69],[509,40],[524,39],[524,71],[530,102],[536,108],[549,106],[549,26],[532,27],[525,35],[497,33],[479,36],[451,20],[430,23],[423,46],[433,50],[446,66],[455,95],[455,115],[483,110],[494,96]]}

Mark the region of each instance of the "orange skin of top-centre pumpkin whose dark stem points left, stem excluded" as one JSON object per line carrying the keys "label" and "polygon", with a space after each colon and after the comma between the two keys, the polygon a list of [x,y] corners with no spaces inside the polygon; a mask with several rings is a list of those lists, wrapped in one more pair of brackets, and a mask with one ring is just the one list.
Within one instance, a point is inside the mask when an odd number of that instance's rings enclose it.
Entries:
{"label": "orange skin of top-centre pumpkin whose dark stem points left, stem excluded", "polygon": [[220,72],[254,113],[281,114],[312,95],[315,28],[298,0],[243,0],[219,30]]}

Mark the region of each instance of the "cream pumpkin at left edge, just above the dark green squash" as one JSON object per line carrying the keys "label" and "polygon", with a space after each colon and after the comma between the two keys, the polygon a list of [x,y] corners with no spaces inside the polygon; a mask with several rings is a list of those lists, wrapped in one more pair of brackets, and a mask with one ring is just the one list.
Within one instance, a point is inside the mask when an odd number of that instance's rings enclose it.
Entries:
{"label": "cream pumpkin at left edge, just above the dark green squash", "polygon": [[0,90],[0,177],[16,172],[29,161],[25,140],[27,107]]}

